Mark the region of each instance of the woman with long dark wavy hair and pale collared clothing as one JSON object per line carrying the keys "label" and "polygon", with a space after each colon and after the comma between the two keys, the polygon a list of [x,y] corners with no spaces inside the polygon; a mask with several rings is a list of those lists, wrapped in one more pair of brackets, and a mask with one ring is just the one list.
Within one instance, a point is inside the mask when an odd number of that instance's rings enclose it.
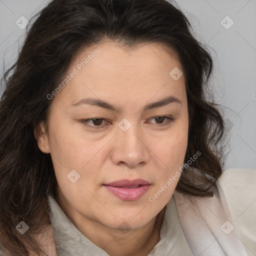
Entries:
{"label": "woman with long dark wavy hair and pale collared clothing", "polygon": [[189,28],[166,0],[40,11],[2,81],[2,255],[247,255]]}

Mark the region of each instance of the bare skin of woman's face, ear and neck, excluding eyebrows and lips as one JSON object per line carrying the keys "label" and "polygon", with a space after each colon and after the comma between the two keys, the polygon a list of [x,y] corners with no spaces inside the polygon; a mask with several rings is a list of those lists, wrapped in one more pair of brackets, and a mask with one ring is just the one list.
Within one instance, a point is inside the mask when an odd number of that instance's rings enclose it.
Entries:
{"label": "bare skin of woman's face, ear and neck, excluding eyebrows and lips", "polygon": [[[159,240],[165,205],[179,178],[154,202],[149,196],[182,165],[187,147],[184,75],[178,80],[169,75],[182,66],[175,52],[170,54],[160,43],[124,50],[106,41],[80,50],[66,75],[95,48],[99,52],[52,98],[48,127],[40,123],[35,136],[40,150],[52,158],[56,201],[76,228],[110,256],[143,256]],[[143,111],[146,104],[168,95],[181,104]],[[71,106],[85,97],[114,104],[119,112],[88,104]],[[155,116],[174,120],[168,123]],[[79,121],[89,118],[105,120],[90,120],[88,126]],[[131,123],[126,131],[118,126],[123,118]],[[93,128],[97,125],[101,127]],[[72,169],[80,174],[74,183],[67,178]],[[124,178],[142,178],[151,185],[141,197],[128,201],[102,186]]]}

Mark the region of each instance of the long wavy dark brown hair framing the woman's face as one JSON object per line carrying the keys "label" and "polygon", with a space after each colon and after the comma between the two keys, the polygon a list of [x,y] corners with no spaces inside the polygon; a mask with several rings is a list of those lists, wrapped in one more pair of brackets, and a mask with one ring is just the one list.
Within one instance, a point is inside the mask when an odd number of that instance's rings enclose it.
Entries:
{"label": "long wavy dark brown hair framing the woman's face", "polygon": [[[47,121],[47,94],[78,50],[106,39],[126,48],[158,42],[178,54],[189,113],[185,162],[197,151],[201,155],[183,169],[176,190],[211,195],[222,172],[225,126],[207,86],[212,58],[176,3],[53,0],[29,21],[18,58],[1,79],[0,244],[6,255],[28,255],[27,247],[45,255],[33,234],[49,223],[46,196],[54,194],[56,178],[51,156],[40,151],[33,130],[39,121]],[[21,220],[29,226],[23,235],[15,229]]]}

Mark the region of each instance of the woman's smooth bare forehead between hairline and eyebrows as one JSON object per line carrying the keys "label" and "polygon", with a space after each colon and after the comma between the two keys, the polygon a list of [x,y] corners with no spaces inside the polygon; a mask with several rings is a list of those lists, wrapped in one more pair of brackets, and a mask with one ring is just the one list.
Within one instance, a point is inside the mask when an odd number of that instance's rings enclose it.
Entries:
{"label": "woman's smooth bare forehead between hairline and eyebrows", "polygon": [[127,101],[150,99],[157,93],[161,97],[166,93],[182,94],[183,75],[177,80],[170,75],[175,68],[182,72],[177,54],[163,44],[143,43],[125,49],[107,41],[79,49],[62,77],[62,82],[64,79],[68,79],[68,82],[57,97],[71,104],[82,96],[115,100],[118,100],[115,98],[118,96]]}

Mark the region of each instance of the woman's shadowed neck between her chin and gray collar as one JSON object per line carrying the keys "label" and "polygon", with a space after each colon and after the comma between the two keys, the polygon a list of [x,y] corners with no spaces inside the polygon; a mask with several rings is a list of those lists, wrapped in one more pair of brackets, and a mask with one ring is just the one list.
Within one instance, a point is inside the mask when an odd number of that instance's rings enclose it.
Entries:
{"label": "woman's shadowed neck between her chin and gray collar", "polygon": [[58,193],[55,198],[76,228],[110,256],[146,256],[159,241],[165,207],[143,227],[120,231],[73,211]]}

